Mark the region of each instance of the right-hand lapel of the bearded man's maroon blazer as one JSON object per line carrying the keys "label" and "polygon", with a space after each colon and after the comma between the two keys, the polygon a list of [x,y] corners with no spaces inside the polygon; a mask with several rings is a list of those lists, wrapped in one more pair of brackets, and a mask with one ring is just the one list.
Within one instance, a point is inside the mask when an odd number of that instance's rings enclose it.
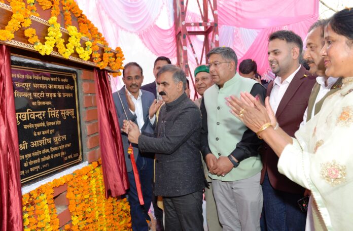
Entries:
{"label": "right-hand lapel of the bearded man's maroon blazer", "polygon": [[294,78],[292,79],[291,83],[289,84],[285,94],[283,95],[282,100],[280,101],[280,103],[278,105],[277,112],[276,112],[277,118],[283,112],[283,110],[287,106],[288,102],[291,100],[291,98],[293,97],[295,92],[298,90],[300,85],[303,83],[302,78],[306,78],[306,76],[304,76],[305,71],[306,71],[305,68],[303,66],[301,66],[299,71],[297,72],[297,74],[295,74]]}

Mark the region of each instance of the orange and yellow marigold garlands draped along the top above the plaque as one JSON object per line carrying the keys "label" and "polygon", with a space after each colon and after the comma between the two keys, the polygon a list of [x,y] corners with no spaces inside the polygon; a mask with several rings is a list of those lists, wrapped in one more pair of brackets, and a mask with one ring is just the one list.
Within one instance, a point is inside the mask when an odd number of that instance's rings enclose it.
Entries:
{"label": "orange and yellow marigold garlands draped along the top above the plaque", "polygon": [[[0,0],[0,2],[4,1]],[[119,48],[120,54],[116,54],[114,57],[114,53],[111,51],[111,48],[109,48],[107,41],[105,41],[97,27],[95,27],[93,23],[87,19],[86,15],[82,13],[82,10],[80,10],[79,6],[74,0],[8,0],[8,2],[10,2],[10,6],[12,7],[13,15],[5,29],[0,30],[0,40],[11,40],[14,38],[14,32],[16,32],[21,26],[29,27],[31,25],[31,20],[29,18],[30,15],[39,16],[35,6],[36,2],[42,7],[43,10],[51,9],[51,17],[59,16],[61,2],[65,27],[68,29],[72,25],[73,13],[78,20],[78,32],[81,33],[82,36],[85,36],[91,40],[90,42],[86,42],[86,48],[82,48],[81,45],[77,44],[75,40],[76,38],[72,38],[72,41],[69,41],[65,48],[63,45],[64,42],[61,41],[61,36],[59,36],[59,32],[55,32],[56,37],[54,34],[48,33],[46,42],[42,44],[36,35],[36,30],[33,28],[27,28],[25,30],[26,36],[28,35],[28,42],[34,44],[34,48],[38,50],[42,55],[44,55],[51,53],[53,48],[52,45],[55,40],[54,44],[56,44],[58,52],[65,58],[68,58],[69,55],[76,50],[80,58],[88,60],[92,57],[93,62],[97,63],[98,68],[104,69],[108,66],[114,71],[118,71],[118,73],[113,73],[113,76],[121,75],[120,70],[123,69],[122,65],[124,60],[121,49]],[[27,7],[24,2],[27,4]],[[51,24],[51,26],[53,25]],[[53,28],[52,30],[58,31],[57,28]],[[72,47],[73,43],[77,44],[77,46]],[[98,44],[104,46],[104,53],[102,57],[100,57],[101,55],[98,52]]]}

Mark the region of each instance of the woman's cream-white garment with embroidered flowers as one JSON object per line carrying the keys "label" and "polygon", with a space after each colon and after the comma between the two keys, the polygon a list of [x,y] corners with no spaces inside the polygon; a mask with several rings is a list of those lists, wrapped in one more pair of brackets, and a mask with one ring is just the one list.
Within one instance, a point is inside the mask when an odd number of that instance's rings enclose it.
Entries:
{"label": "woman's cream-white garment with embroidered flowers", "polygon": [[[316,230],[353,230],[353,78],[296,134],[278,170],[314,197]],[[323,221],[325,224],[323,224]],[[325,227],[326,226],[326,227]]]}

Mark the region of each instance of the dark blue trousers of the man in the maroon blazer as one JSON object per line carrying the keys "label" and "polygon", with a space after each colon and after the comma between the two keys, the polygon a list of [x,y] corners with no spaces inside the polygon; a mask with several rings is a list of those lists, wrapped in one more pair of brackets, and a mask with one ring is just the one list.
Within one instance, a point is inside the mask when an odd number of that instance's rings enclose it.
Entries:
{"label": "dark blue trousers of the man in the maroon blazer", "polygon": [[295,194],[274,189],[265,174],[262,184],[264,207],[261,215],[261,230],[294,231],[305,230],[306,213],[299,208],[297,201],[304,194]]}

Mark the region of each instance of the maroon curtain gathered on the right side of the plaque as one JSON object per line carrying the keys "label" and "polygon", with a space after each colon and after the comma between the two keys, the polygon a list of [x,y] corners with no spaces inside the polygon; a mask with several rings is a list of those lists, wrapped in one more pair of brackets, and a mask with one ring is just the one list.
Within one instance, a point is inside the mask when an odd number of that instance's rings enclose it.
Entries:
{"label": "maroon curtain gathered on the right side of the plaque", "polygon": [[115,197],[129,188],[120,127],[107,71],[94,69],[94,82],[105,196]]}

